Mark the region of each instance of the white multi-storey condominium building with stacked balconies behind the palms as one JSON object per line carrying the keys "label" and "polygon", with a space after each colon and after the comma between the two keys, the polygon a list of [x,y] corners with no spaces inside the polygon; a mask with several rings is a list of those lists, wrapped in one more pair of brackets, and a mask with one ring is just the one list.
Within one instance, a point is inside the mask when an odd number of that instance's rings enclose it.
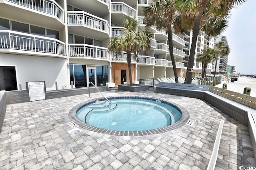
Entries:
{"label": "white multi-storey condominium building with stacked balconies behind the palms", "polygon": [[[26,90],[44,81],[46,90],[121,84],[129,80],[126,53],[108,53],[111,36],[122,35],[122,18],[136,18],[144,29],[142,9],[150,0],[1,0],[0,90]],[[168,36],[152,30],[152,48],[132,60],[132,79],[173,77]],[[178,76],[183,76],[192,33],[172,34]],[[200,32],[196,53],[213,47]],[[194,68],[202,64],[194,61]],[[73,86],[72,86],[73,85]]]}

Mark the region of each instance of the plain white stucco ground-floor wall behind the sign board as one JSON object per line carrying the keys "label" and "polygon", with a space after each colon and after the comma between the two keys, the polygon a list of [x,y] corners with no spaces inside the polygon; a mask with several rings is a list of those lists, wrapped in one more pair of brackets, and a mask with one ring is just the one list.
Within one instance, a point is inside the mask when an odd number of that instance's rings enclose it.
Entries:
{"label": "plain white stucco ground-floor wall behind the sign board", "polygon": [[62,89],[68,85],[67,59],[0,53],[0,66],[14,66],[17,86],[26,89],[26,82],[45,81],[46,90]]}

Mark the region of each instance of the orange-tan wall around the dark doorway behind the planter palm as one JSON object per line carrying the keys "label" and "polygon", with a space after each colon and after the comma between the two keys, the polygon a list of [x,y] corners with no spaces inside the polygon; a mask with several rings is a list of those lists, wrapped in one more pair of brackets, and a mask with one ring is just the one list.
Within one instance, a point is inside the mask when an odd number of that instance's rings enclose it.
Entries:
{"label": "orange-tan wall around the dark doorway behind the planter palm", "polygon": [[[120,74],[119,74],[119,70],[120,70]],[[115,86],[118,86],[118,84],[121,84],[121,81],[122,81],[121,70],[126,70],[126,81],[129,83],[130,78],[129,78],[127,63],[112,63],[111,78],[112,78],[112,83],[115,83]],[[132,70],[132,81],[135,81],[135,64],[131,64],[131,70]]]}

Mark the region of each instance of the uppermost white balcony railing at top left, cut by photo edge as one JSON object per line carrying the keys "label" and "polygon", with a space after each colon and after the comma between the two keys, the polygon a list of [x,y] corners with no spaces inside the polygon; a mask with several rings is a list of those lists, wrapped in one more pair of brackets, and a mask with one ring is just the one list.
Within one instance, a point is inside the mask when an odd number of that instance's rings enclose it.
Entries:
{"label": "uppermost white balcony railing at top left, cut by photo edge", "polygon": [[56,16],[64,22],[64,9],[54,0],[9,0],[15,4]]}

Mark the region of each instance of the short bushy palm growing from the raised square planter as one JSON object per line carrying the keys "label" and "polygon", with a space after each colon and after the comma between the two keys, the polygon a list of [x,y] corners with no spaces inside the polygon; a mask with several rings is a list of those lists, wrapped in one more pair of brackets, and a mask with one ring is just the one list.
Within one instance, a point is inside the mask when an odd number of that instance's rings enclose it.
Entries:
{"label": "short bushy palm growing from the raised square planter", "polygon": [[148,51],[151,48],[151,32],[148,29],[137,30],[138,22],[134,18],[124,16],[123,26],[125,28],[123,35],[114,35],[108,42],[108,50],[112,54],[121,55],[123,51],[127,53],[127,64],[129,71],[130,85],[132,85],[131,60],[132,54],[138,61],[137,53]]}

